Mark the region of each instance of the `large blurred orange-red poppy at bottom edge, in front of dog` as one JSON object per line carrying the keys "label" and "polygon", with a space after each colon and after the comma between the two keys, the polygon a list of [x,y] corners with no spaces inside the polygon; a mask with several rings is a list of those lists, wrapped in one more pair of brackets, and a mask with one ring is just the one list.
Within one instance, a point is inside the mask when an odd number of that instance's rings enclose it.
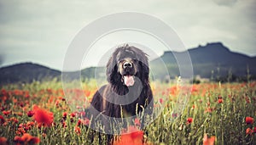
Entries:
{"label": "large blurred orange-red poppy at bottom edge, in front of dog", "polygon": [[129,126],[129,132],[124,131],[113,145],[143,145],[143,131],[138,131],[135,126]]}

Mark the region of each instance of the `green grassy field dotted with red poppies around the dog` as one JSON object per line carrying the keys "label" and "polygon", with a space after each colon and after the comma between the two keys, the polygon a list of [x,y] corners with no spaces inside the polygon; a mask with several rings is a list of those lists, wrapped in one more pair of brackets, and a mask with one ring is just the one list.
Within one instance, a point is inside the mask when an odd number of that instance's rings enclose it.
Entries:
{"label": "green grassy field dotted with red poppies around the dog", "polygon": [[[83,83],[90,100],[93,81]],[[256,144],[256,82],[194,84],[181,115],[173,114],[180,88],[155,83],[154,107],[159,116],[143,130],[140,121],[131,133],[113,136],[125,144]],[[70,109],[61,82],[34,81],[0,88],[0,144],[108,144],[107,135],[90,129],[84,112]]]}

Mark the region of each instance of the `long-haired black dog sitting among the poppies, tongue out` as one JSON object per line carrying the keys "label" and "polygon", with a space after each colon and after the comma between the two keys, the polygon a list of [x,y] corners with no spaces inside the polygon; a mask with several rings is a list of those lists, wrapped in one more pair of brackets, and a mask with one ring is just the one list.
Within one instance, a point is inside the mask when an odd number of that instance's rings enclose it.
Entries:
{"label": "long-haired black dog sitting among the poppies, tongue out", "polygon": [[[151,115],[154,101],[148,75],[146,53],[129,45],[118,47],[108,60],[108,85],[102,86],[90,103],[88,110],[94,124],[91,126],[95,127],[99,122],[105,125],[102,128],[108,133],[108,130],[118,127],[120,120],[125,117],[142,112],[143,116]],[[111,125],[113,122],[115,125]]]}

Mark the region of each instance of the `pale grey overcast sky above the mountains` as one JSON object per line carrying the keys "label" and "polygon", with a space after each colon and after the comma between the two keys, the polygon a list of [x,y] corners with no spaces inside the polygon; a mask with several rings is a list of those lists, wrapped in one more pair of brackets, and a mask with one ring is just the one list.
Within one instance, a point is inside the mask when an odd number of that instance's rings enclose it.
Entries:
{"label": "pale grey overcast sky above the mountains", "polygon": [[[120,12],[164,21],[186,48],[223,42],[233,52],[256,56],[255,0],[0,0],[0,67],[33,62],[61,70],[79,31],[102,16]],[[158,47],[154,49],[158,56],[167,50],[142,32],[119,31],[97,41],[81,67],[107,61],[110,53],[102,47],[110,50],[125,42]]]}

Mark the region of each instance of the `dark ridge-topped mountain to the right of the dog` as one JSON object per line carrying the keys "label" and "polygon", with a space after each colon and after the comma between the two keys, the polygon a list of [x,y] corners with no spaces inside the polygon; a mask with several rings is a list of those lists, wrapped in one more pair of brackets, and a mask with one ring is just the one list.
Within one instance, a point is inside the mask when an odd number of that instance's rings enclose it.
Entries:
{"label": "dark ridge-topped mountain to the right of the dog", "polygon": [[[188,50],[191,63],[194,70],[194,75],[201,75],[201,77],[226,77],[245,76],[247,70],[251,75],[256,75],[256,57],[249,57],[241,53],[231,52],[228,47],[225,47],[221,42],[207,43],[206,46],[199,46]],[[160,58],[154,59],[150,62],[152,70],[155,72],[157,78],[163,79],[165,74],[161,70],[161,62],[166,64],[171,77],[180,75],[178,70],[176,57],[183,56],[185,52],[165,52]]]}

